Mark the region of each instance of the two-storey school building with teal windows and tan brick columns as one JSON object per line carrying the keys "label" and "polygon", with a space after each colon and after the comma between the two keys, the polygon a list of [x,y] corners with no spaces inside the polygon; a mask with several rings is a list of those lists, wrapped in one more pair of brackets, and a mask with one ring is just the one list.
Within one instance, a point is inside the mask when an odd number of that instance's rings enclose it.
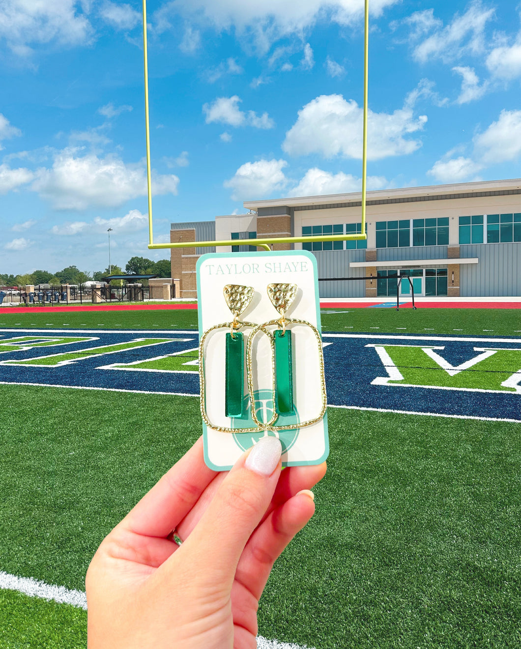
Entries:
{"label": "two-storey school building with teal windows and tan brick columns", "polygon": [[[248,239],[361,232],[361,192],[245,201],[249,214],[171,224],[171,241],[237,239],[218,252],[256,251]],[[521,179],[367,192],[367,240],[275,244],[313,252],[321,297],[521,295]],[[171,250],[178,297],[197,297],[195,264],[215,247]],[[365,277],[351,281],[345,278]],[[400,284],[409,295],[409,282]]]}

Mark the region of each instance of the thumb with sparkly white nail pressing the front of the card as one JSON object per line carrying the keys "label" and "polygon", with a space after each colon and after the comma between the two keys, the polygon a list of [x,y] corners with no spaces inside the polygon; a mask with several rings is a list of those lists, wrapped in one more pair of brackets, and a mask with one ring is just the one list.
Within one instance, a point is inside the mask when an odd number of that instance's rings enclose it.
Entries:
{"label": "thumb with sparkly white nail pressing the front of the card", "polygon": [[282,445],[262,437],[239,458],[180,550],[188,552],[204,583],[232,587],[237,563],[260,523],[280,476]]}

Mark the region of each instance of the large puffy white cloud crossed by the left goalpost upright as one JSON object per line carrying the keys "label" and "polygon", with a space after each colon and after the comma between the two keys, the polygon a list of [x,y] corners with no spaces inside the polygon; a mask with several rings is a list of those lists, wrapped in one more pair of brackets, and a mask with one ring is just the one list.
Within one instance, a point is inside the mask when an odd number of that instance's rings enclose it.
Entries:
{"label": "large puffy white cloud crossed by the left goalpost upright", "polygon": [[[176,194],[178,183],[175,175],[154,174],[152,191]],[[79,149],[67,148],[55,154],[51,169],[36,171],[31,188],[58,210],[114,207],[147,195],[147,175],[143,164],[125,164],[115,155],[82,156]]]}

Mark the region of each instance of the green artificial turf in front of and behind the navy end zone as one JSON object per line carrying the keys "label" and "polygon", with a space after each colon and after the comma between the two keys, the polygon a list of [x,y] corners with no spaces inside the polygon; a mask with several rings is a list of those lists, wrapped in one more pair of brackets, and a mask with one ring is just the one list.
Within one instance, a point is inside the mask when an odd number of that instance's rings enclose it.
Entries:
{"label": "green artificial turf in front of and behind the navy end zone", "polygon": [[[11,328],[191,330],[197,319],[0,315],[2,338],[21,335]],[[322,313],[322,326],[517,339],[521,321],[513,310],[345,309]],[[101,539],[199,436],[197,398],[15,385],[0,394],[0,570],[83,591]],[[519,395],[505,399],[519,408]],[[260,634],[317,649],[520,646],[521,426],[346,408],[330,408],[328,421],[317,513],[274,569]],[[0,589],[0,647],[84,646],[84,610]]]}

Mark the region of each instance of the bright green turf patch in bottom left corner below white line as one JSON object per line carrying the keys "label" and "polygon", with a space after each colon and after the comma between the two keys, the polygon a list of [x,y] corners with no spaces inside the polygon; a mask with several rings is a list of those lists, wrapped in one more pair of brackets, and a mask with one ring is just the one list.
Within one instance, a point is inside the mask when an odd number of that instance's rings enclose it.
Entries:
{"label": "bright green turf patch in bottom left corner below white line", "polygon": [[85,649],[86,634],[86,611],[0,591],[2,649]]}

